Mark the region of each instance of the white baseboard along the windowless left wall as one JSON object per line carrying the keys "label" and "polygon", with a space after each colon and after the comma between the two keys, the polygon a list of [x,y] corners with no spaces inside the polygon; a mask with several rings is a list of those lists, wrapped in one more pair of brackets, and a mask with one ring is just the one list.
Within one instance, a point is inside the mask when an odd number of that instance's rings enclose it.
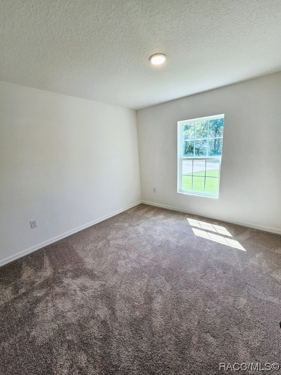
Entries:
{"label": "white baseboard along the windowless left wall", "polygon": [[110,217],[112,216],[115,216],[115,215],[118,215],[119,213],[123,212],[123,211],[126,211],[127,209],[129,208],[133,208],[135,206],[138,206],[141,204],[141,201],[139,202],[136,202],[136,203],[133,203],[132,205],[129,205],[127,207],[124,207],[124,208],[121,208],[115,212],[112,212],[112,213],[109,213],[108,215],[105,215],[105,216],[102,216],[100,217],[99,219],[96,219],[96,220],[93,220],[87,224],[84,224],[84,225],[81,225],[80,227],[77,227],[75,229],[72,229],[72,230],[68,230],[67,232],[65,233],[62,233],[56,237],[53,237],[53,238],[50,238],[49,240],[46,240],[44,242],[41,242],[40,244],[38,245],[35,245],[35,246],[32,246],[31,248],[29,249],[26,249],[26,250],[22,250],[20,252],[17,252],[16,254],[14,255],[11,255],[11,256],[8,256],[7,258],[5,259],[2,259],[0,260],[0,267],[1,266],[4,266],[5,264],[7,263],[10,263],[12,262],[13,260],[16,260],[18,258],[21,258],[22,256],[24,255],[27,255],[29,254],[30,252],[33,252],[33,251],[36,251],[36,250],[39,250],[41,248],[44,248],[45,246],[47,245],[50,245],[50,244],[53,244],[54,242],[57,242],[59,240],[61,240],[62,238],[65,238],[65,237],[68,237],[70,236],[71,234],[74,234],[74,233],[77,233],[77,232],[80,232],[80,230],[83,230],[83,229],[86,229],[86,228],[89,228],[91,227],[92,225],[95,225],[95,224],[98,224],[100,223],[101,221],[103,220],[106,220],[106,219],[109,219]]}

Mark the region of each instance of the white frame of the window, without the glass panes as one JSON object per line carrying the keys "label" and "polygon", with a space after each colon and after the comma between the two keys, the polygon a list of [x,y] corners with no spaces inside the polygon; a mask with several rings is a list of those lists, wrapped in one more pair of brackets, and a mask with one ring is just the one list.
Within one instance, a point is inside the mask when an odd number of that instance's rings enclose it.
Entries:
{"label": "white frame of the window, without the glass panes", "polygon": [[[188,123],[194,123],[196,121],[206,121],[206,120],[215,120],[224,118],[224,114],[215,115],[215,116],[206,116],[200,117],[197,119],[190,119],[190,120],[182,120],[178,121],[178,184],[177,184],[177,192],[180,194],[187,194],[187,195],[197,195],[201,197],[208,197],[208,198],[219,198],[220,193],[220,180],[221,180],[221,156],[183,156],[182,155],[182,125]],[[223,136],[222,136],[222,146],[223,146]],[[222,155],[222,151],[221,151]],[[218,194],[210,194],[205,192],[193,192],[193,191],[186,191],[183,190],[181,187],[182,184],[182,162],[184,160],[218,160],[219,161],[219,178],[218,178]]]}

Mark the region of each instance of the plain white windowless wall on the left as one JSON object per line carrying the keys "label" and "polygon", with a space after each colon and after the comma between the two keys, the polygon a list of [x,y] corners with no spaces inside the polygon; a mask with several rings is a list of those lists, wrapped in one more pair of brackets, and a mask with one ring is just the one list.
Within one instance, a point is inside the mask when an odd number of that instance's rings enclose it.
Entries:
{"label": "plain white windowless wall on the left", "polygon": [[0,82],[0,261],[140,199],[134,110]]}

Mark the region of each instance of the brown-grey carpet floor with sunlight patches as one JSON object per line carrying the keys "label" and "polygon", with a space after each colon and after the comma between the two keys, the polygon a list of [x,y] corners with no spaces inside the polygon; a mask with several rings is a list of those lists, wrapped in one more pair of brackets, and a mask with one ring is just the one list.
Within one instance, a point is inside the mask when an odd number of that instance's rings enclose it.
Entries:
{"label": "brown-grey carpet floor with sunlight patches", "polygon": [[1,375],[245,374],[280,321],[281,236],[143,204],[0,268]]}

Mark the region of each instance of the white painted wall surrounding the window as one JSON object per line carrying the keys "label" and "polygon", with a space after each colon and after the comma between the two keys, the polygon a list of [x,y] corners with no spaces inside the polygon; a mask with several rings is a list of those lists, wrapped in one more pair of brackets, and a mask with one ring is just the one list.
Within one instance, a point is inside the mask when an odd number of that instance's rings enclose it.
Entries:
{"label": "white painted wall surrounding the window", "polygon": [[[275,73],[137,111],[142,201],[281,232],[280,98]],[[177,121],[221,113],[219,199],[177,193]]]}

